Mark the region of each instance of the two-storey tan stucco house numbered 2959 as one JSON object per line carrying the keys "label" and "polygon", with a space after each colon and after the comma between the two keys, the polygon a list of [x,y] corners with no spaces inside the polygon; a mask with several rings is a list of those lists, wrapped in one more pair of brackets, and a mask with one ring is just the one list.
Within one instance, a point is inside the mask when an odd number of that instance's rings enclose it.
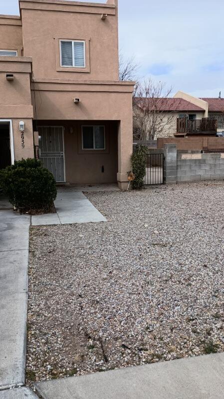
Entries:
{"label": "two-storey tan stucco house numbered 2959", "polygon": [[0,167],[40,155],[56,181],[127,187],[133,82],[118,77],[117,0],[20,0],[0,15]]}

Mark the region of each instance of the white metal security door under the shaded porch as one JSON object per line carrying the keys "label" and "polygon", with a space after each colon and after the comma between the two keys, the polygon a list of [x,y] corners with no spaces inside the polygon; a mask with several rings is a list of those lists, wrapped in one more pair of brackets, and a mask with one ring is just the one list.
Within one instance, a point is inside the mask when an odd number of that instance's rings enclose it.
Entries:
{"label": "white metal security door under the shaded porch", "polygon": [[64,128],[63,126],[39,126],[40,160],[57,182],[65,181]]}

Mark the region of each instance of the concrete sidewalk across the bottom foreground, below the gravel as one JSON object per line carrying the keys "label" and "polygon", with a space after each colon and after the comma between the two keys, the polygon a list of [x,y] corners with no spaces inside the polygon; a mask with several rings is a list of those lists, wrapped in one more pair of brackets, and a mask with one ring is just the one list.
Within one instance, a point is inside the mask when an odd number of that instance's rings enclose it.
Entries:
{"label": "concrete sidewalk across the bottom foreground, below the gravel", "polygon": [[43,399],[223,399],[224,353],[37,382]]}

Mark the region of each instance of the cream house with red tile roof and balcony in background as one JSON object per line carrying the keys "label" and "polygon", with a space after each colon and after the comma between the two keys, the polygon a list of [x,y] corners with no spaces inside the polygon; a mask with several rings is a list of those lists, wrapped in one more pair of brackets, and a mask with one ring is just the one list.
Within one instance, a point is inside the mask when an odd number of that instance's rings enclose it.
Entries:
{"label": "cream house with red tile roof and balcony in background", "polygon": [[[216,135],[217,132],[224,130],[224,98],[221,96],[197,98],[178,91],[173,98],[141,98],[137,99],[137,103],[140,111],[135,118],[134,108],[135,138],[138,138],[138,130],[141,130],[142,126],[146,130],[145,136],[147,130],[149,131],[148,135],[151,132],[148,139],[202,134]],[[146,114],[145,119],[144,114]],[[144,124],[143,120],[146,120],[147,123]],[[140,125],[139,129],[138,125]]]}

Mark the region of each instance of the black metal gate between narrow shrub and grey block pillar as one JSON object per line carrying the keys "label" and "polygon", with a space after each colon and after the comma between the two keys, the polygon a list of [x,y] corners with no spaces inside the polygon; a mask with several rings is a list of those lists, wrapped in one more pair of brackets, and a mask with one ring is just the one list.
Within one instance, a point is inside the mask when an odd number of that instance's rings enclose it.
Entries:
{"label": "black metal gate between narrow shrub and grey block pillar", "polygon": [[164,154],[147,154],[145,184],[164,183]]}

